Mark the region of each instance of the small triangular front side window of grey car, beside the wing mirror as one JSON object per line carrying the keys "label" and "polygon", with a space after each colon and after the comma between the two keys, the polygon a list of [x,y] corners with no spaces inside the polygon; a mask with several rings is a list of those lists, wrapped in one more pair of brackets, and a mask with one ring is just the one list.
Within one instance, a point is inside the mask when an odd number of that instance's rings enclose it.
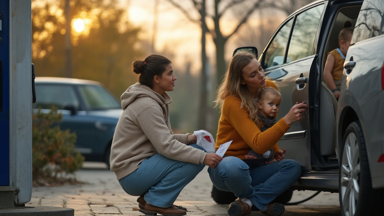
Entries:
{"label": "small triangular front side window of grey car, beside the wing mirror", "polygon": [[276,34],[275,38],[273,38],[265,51],[264,68],[283,64],[285,48],[291,32],[292,22],[293,19],[280,28],[280,31]]}

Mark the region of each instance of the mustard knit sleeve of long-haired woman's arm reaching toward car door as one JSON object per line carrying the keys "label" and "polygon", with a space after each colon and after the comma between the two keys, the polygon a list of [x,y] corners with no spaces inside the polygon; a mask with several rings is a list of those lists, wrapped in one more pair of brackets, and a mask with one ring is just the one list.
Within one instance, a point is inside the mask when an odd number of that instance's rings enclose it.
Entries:
{"label": "mustard knit sleeve of long-haired woman's arm reaching toward car door", "polygon": [[[255,122],[248,116],[247,110],[240,108],[240,104],[235,102],[228,106],[228,119],[247,145],[260,155],[273,146],[277,146],[277,141],[290,128],[281,118],[271,128],[261,132]],[[274,151],[275,149],[276,147]]]}

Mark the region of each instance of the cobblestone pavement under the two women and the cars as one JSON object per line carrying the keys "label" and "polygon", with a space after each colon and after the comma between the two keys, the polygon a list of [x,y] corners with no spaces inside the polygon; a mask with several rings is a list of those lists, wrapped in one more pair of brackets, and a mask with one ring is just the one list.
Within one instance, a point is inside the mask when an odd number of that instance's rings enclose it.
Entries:
{"label": "cobblestone pavement under the two women and the cars", "polygon": [[[140,215],[135,196],[126,194],[112,171],[103,163],[84,163],[76,173],[78,180],[88,182],[77,186],[33,188],[31,201],[26,205],[62,206],[74,209],[74,215]],[[175,204],[188,209],[187,216],[227,215],[228,205],[216,204],[210,197],[212,183],[207,168],[180,193]],[[294,191],[291,201],[298,201],[314,191]],[[318,196],[296,206],[285,206],[283,216],[339,216],[338,193],[321,192]],[[264,216],[253,211],[252,216]]]}

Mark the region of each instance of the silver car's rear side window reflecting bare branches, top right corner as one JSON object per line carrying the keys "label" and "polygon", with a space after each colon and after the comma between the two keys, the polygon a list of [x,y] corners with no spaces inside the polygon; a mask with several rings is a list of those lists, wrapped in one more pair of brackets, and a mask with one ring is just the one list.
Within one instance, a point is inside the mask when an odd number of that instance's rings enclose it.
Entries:
{"label": "silver car's rear side window reflecting bare branches, top right corner", "polygon": [[384,1],[364,0],[353,31],[351,44],[382,35],[383,27]]}

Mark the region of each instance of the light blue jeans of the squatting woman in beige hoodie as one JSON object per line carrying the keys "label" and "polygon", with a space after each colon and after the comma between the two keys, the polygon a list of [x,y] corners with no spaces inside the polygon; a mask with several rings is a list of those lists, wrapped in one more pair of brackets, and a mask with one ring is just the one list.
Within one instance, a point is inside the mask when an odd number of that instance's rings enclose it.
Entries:
{"label": "light blue jeans of the squatting woman in beige hoodie", "polygon": [[[197,144],[190,146],[204,150]],[[140,196],[146,193],[144,199],[147,203],[167,208],[204,166],[172,160],[157,154],[142,161],[139,168],[119,179],[119,183],[127,194]]]}

